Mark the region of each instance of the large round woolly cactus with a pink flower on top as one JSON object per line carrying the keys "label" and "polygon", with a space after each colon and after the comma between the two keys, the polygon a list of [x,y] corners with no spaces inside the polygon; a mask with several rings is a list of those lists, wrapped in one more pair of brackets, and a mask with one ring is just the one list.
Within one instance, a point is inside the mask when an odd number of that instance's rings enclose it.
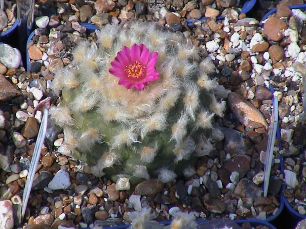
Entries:
{"label": "large round woolly cactus with a pink flower on top", "polygon": [[215,66],[182,34],[155,23],[96,33],[97,42],[80,43],[53,80],[63,97],[50,109],[64,129],[61,152],[114,181],[173,180],[214,149],[213,117],[225,107],[223,87],[208,75]]}

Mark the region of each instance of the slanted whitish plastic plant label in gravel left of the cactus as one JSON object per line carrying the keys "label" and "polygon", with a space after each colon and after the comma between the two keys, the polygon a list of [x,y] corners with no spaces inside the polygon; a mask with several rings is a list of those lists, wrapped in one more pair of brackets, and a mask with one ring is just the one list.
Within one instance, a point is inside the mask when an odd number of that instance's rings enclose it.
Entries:
{"label": "slanted whitish plastic plant label in gravel left of the cactus", "polygon": [[23,221],[23,218],[24,218],[24,215],[27,209],[28,200],[29,200],[29,196],[31,193],[32,185],[33,185],[34,175],[35,175],[36,168],[37,168],[37,163],[39,160],[44,137],[47,131],[47,121],[48,121],[48,109],[44,109],[40,128],[38,131],[36,145],[34,147],[32,161],[30,164],[29,174],[28,174],[25,189],[22,195],[21,222]]}

